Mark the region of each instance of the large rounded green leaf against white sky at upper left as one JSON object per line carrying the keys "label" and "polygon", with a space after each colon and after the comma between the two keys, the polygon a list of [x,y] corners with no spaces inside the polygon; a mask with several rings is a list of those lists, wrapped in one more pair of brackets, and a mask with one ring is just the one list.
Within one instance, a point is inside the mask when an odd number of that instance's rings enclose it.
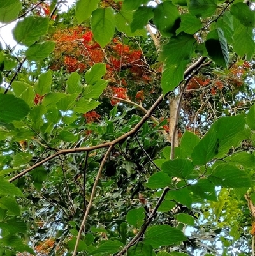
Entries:
{"label": "large rounded green leaf against white sky at upper left", "polygon": [[13,37],[22,45],[33,45],[48,30],[48,18],[29,16],[20,20],[13,29]]}

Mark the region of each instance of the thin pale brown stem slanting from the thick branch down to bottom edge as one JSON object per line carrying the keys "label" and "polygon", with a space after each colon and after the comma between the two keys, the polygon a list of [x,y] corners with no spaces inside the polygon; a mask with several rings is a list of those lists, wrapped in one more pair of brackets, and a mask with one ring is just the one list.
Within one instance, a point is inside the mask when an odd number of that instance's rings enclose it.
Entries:
{"label": "thin pale brown stem slanting from the thick branch down to bottom edge", "polygon": [[111,152],[111,150],[112,150],[112,147],[113,147],[113,145],[110,144],[110,146],[108,147],[108,150],[107,150],[107,152],[105,153],[105,156],[104,156],[104,158],[103,158],[103,160],[102,160],[102,162],[101,162],[101,165],[100,165],[100,167],[99,167],[98,174],[97,174],[97,176],[96,176],[96,179],[95,179],[95,182],[94,182],[94,185],[93,185],[93,188],[92,188],[91,198],[89,199],[89,204],[87,205],[87,209],[86,209],[86,211],[85,211],[85,215],[84,215],[84,218],[83,218],[83,220],[82,220],[82,224],[80,225],[80,230],[79,230],[78,235],[77,235],[77,241],[76,241],[76,243],[75,243],[75,248],[74,248],[74,250],[73,250],[72,256],[75,256],[76,253],[77,253],[77,249],[78,249],[80,237],[82,236],[82,230],[83,230],[84,227],[85,227],[85,223],[86,223],[86,220],[87,220],[87,216],[89,215],[89,210],[91,209],[92,202],[93,202],[93,199],[94,199],[94,196],[95,196],[95,193],[96,193],[96,186],[98,186],[98,181],[99,181],[99,179],[100,179],[100,177],[101,177],[101,173],[102,173],[103,167],[104,167],[105,162],[106,162],[106,160],[107,160],[107,158],[108,158],[108,156],[109,156],[109,154],[110,154],[110,152]]}

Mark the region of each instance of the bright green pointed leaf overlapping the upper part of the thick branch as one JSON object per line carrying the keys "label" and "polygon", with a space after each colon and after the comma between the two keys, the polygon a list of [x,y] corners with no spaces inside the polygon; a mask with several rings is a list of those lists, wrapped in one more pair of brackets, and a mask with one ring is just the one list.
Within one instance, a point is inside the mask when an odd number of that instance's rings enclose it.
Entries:
{"label": "bright green pointed leaf overlapping the upper part of the thick branch", "polygon": [[175,65],[164,65],[161,77],[161,87],[165,95],[169,91],[173,91],[184,79],[184,71],[189,61],[182,61]]}

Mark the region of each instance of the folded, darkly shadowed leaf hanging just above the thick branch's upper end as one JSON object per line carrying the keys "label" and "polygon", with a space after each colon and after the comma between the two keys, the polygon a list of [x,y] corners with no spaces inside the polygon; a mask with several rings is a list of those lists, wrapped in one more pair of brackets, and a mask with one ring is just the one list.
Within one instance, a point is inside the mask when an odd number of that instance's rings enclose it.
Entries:
{"label": "folded, darkly shadowed leaf hanging just above the thick branch's upper end", "polygon": [[224,66],[224,68],[228,68],[228,45],[221,28],[208,33],[205,47],[209,56],[215,63]]}

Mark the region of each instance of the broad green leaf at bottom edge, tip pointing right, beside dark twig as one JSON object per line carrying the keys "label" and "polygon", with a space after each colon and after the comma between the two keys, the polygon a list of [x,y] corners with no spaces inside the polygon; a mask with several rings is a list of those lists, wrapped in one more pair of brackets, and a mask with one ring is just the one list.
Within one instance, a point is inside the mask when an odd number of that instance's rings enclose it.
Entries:
{"label": "broad green leaf at bottom edge, tip pointing right, beside dark twig", "polygon": [[152,245],[153,248],[159,248],[186,240],[187,237],[179,229],[169,225],[154,225],[146,230],[144,243]]}

